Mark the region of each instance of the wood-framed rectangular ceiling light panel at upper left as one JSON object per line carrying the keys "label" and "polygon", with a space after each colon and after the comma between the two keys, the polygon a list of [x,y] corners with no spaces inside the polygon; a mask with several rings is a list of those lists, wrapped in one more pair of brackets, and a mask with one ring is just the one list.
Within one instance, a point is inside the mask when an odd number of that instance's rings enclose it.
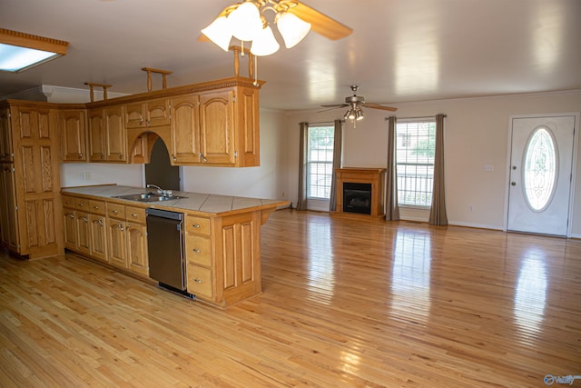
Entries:
{"label": "wood-framed rectangular ceiling light panel at upper left", "polygon": [[66,55],[67,42],[0,28],[0,70],[19,73]]}

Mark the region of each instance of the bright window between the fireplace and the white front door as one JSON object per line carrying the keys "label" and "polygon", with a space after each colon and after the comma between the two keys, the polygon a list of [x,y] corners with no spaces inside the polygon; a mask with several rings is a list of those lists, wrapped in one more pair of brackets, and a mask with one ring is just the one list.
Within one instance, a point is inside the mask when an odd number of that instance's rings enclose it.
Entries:
{"label": "bright window between the fireplace and the white front door", "polygon": [[398,203],[431,206],[436,120],[399,120],[396,127]]}

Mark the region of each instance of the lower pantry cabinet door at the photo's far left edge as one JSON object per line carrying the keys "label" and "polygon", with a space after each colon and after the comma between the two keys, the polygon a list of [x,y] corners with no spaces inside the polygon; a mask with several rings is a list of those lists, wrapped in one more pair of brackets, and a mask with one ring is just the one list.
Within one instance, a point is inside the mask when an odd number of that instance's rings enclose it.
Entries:
{"label": "lower pantry cabinet door at the photo's far left edge", "polygon": [[0,164],[0,241],[17,252],[19,239],[15,212],[15,169],[12,164]]}

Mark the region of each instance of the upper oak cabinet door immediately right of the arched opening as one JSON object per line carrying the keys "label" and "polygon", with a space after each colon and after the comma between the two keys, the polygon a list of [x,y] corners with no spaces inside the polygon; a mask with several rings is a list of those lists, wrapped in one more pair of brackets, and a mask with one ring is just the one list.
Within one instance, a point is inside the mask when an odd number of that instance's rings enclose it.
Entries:
{"label": "upper oak cabinet door immediately right of the arched opening", "polygon": [[200,163],[198,95],[172,98],[172,164]]}

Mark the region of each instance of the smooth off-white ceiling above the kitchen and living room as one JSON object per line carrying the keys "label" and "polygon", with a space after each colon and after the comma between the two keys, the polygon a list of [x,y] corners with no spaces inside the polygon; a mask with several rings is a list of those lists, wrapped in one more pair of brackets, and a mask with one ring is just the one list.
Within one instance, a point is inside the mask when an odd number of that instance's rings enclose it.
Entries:
{"label": "smooth off-white ceiling above the kitchen and living room", "polygon": [[[233,75],[233,55],[198,42],[232,0],[0,0],[0,27],[70,43],[68,54],[22,74],[0,72],[0,96],[36,85],[147,90],[144,66],[168,85]],[[316,33],[258,62],[261,106],[338,104],[360,86],[393,104],[581,89],[579,0],[304,0],[353,28]],[[245,60],[241,74],[247,74]],[[161,81],[153,78],[154,88]]]}

